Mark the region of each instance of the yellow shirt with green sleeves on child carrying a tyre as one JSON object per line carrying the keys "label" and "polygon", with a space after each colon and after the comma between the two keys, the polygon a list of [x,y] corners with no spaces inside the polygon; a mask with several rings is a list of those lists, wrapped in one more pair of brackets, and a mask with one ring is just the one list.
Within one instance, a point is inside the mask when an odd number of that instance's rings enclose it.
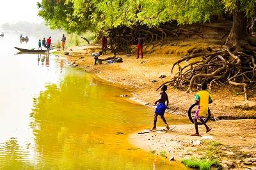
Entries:
{"label": "yellow shirt with green sleeves on child carrying a tyre", "polygon": [[210,93],[206,90],[198,91],[195,100],[199,102],[200,111],[198,115],[205,117],[208,112],[209,101],[212,100]]}

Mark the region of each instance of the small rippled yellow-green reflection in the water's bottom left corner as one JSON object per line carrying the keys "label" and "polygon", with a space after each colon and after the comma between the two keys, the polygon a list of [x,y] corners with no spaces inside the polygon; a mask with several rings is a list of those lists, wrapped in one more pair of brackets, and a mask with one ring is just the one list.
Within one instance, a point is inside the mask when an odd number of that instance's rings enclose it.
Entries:
{"label": "small rippled yellow-green reflection in the water's bottom left corner", "polygon": [[0,169],[26,169],[29,167],[26,164],[26,157],[22,154],[18,141],[15,138],[11,138],[5,143],[0,145]]}

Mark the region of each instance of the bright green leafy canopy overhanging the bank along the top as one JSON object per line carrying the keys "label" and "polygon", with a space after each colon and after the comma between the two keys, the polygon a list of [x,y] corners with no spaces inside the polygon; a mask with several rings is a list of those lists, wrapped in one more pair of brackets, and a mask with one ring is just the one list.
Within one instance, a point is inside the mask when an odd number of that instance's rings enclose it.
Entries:
{"label": "bright green leafy canopy overhanging the bank along the top", "polygon": [[42,0],[38,15],[53,29],[80,34],[138,24],[156,27],[175,20],[178,24],[208,22],[212,15],[234,10],[250,17],[255,4],[255,0]]}

